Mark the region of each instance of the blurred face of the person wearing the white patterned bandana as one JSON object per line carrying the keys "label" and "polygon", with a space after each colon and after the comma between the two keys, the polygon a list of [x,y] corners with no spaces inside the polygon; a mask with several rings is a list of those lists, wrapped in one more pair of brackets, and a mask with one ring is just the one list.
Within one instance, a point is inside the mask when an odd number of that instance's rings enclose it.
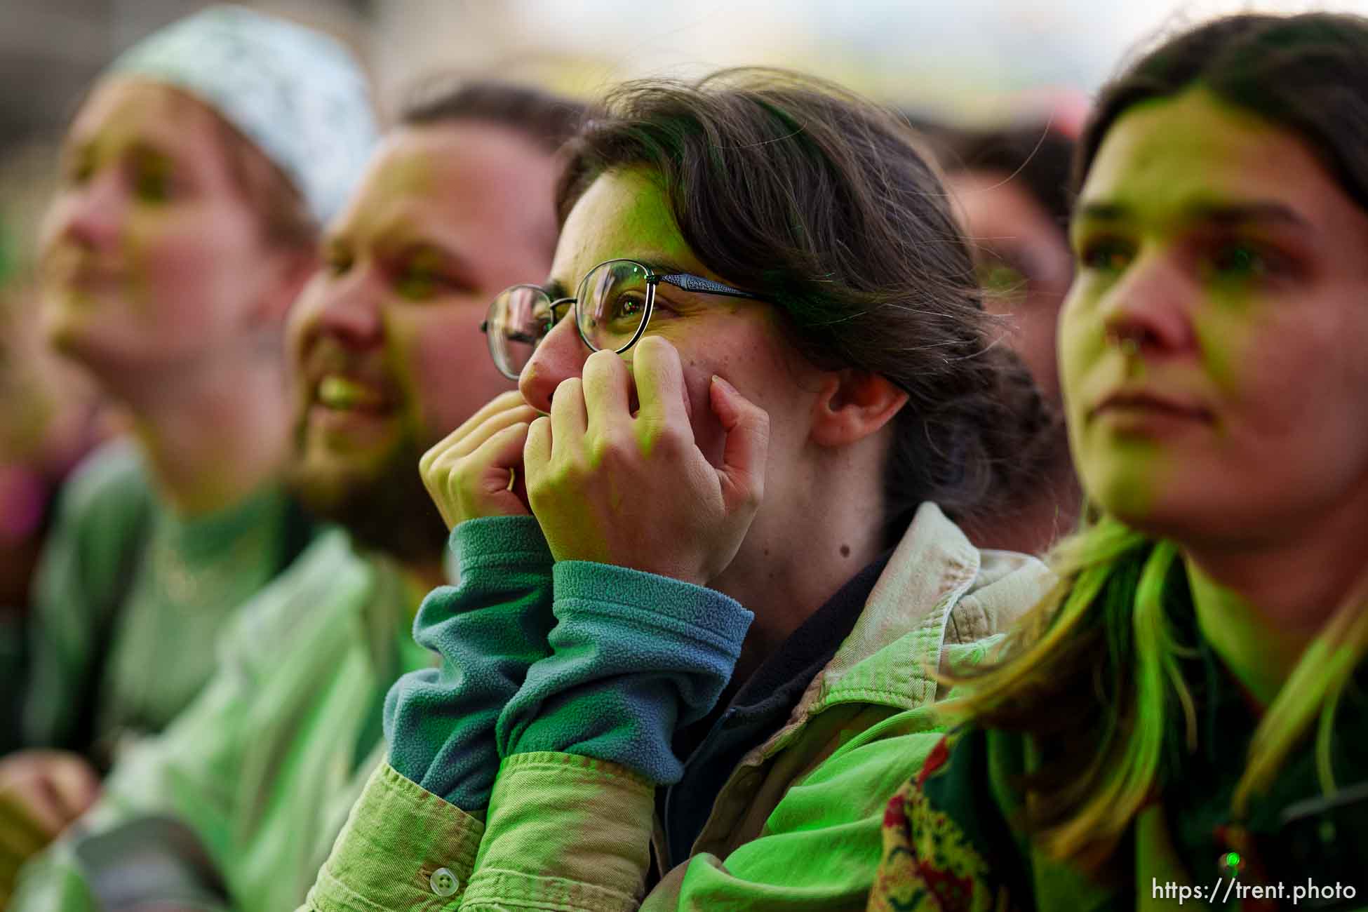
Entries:
{"label": "blurred face of the person wearing the white patterned bandana", "polygon": [[73,122],[42,230],[44,321],[105,383],[160,380],[278,325],[289,258],[234,179],[226,129],[130,79],[97,86]]}

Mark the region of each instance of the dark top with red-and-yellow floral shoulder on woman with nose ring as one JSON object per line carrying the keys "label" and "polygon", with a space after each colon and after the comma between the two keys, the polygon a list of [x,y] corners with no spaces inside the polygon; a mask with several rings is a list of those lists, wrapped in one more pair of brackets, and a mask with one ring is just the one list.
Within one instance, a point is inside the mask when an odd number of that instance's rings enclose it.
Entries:
{"label": "dark top with red-and-yellow floral shoulder on woman with nose ring", "polygon": [[[1368,783],[1368,666],[1335,715],[1332,767],[1343,805],[1306,811],[1324,797],[1308,738],[1248,816],[1234,820],[1231,794],[1260,708],[1198,637],[1186,587],[1172,595],[1171,619],[1193,644],[1182,674],[1197,707],[1197,745],[1189,751],[1181,732],[1171,736],[1157,801],[1131,823],[1107,868],[1086,874],[1030,844],[1012,822],[1021,819],[1019,777],[1040,768],[1036,752],[1026,736],[969,726],[947,736],[889,801],[871,912],[1267,912],[1294,908],[1291,889],[1306,883],[1353,886],[1357,902],[1334,908],[1368,908],[1368,815],[1361,799],[1353,801]],[[1223,887],[1212,898],[1213,885],[1228,878],[1231,852],[1241,885],[1282,883],[1282,901]],[[1202,890],[1201,898],[1187,893],[1181,904],[1178,887]]]}

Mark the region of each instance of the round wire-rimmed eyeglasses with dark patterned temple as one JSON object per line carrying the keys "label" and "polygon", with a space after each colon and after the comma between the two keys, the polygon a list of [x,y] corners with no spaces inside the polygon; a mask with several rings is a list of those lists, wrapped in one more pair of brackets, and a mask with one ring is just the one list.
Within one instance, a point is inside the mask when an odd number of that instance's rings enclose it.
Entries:
{"label": "round wire-rimmed eyeglasses with dark patterned temple", "polygon": [[490,343],[490,357],[499,373],[517,380],[566,309],[575,310],[575,327],[591,351],[627,351],[646,332],[655,312],[655,286],[666,282],[684,291],[721,294],[759,301],[750,291],[687,272],[661,273],[636,260],[605,260],[590,269],[573,298],[555,298],[535,284],[505,289],[480,324]]}

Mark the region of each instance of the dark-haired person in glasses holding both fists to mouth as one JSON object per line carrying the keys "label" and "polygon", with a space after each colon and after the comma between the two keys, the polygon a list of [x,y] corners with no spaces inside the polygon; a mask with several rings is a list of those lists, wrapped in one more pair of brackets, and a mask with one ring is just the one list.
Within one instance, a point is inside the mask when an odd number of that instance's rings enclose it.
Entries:
{"label": "dark-haired person in glasses holding both fists to mouth", "polygon": [[947,514],[1010,511],[1048,416],[882,112],[633,85],[569,157],[550,278],[484,327],[520,392],[423,459],[443,665],[311,902],[629,908],[654,844],[651,908],[858,908],[934,669],[1044,585]]}

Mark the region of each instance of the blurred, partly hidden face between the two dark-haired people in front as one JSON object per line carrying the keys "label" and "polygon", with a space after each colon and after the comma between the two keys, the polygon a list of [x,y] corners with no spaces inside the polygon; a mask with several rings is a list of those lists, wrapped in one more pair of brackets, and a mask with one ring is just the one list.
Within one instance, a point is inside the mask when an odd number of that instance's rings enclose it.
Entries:
{"label": "blurred, partly hidden face between the two dark-haired people in front", "polygon": [[1051,401],[1059,402],[1055,325],[1073,278],[1064,226],[1003,171],[955,171],[945,183],[974,246],[984,306],[1008,317],[1011,345]]}

